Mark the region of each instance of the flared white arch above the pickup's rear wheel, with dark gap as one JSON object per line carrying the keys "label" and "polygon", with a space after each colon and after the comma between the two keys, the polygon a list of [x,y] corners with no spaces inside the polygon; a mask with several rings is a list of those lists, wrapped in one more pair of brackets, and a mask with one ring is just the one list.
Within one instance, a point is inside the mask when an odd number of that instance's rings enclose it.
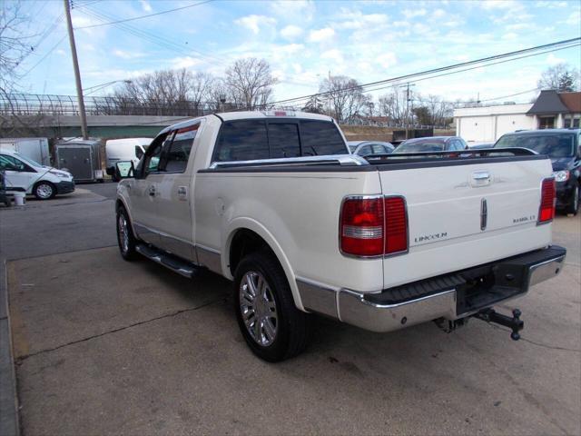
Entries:
{"label": "flared white arch above the pickup's rear wheel, with dark gap", "polygon": [[272,233],[262,226],[261,223],[257,223],[251,219],[243,219],[239,223],[231,226],[225,241],[226,243],[222,250],[222,272],[224,272],[226,277],[233,279],[236,267],[245,255],[261,249],[267,249],[272,253],[278,263],[281,264],[282,271],[284,271],[289,286],[291,287],[292,298],[296,307],[300,311],[305,312],[300,300],[300,292],[291,267],[291,262]]}

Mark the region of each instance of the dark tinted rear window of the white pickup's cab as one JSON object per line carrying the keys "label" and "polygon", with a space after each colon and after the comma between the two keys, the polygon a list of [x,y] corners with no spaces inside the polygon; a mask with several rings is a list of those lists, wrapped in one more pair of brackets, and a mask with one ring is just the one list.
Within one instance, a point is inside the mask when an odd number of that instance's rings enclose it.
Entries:
{"label": "dark tinted rear window of the white pickup's cab", "polygon": [[212,162],[349,154],[337,126],[321,120],[233,120],[222,124]]}

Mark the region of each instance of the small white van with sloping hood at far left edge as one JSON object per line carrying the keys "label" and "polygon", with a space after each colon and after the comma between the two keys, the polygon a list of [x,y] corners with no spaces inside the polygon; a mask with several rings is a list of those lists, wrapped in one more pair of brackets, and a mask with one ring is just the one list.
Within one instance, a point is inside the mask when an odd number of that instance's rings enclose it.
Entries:
{"label": "small white van with sloping hood at far left edge", "polygon": [[39,200],[48,200],[74,191],[71,173],[43,166],[15,152],[0,151],[0,170],[5,172],[7,193],[25,192]]}

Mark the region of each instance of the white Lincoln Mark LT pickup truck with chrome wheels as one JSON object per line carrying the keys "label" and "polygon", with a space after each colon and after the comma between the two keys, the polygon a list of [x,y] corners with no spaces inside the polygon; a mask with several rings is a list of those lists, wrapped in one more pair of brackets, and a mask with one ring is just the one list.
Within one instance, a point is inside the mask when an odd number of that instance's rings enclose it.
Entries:
{"label": "white Lincoln Mark LT pickup truck with chrome wheels", "polygon": [[374,332],[478,317],[560,272],[551,161],[526,149],[350,155],[315,114],[212,114],[165,128],[140,163],[117,163],[117,233],[192,277],[233,281],[252,352],[298,354],[310,313]]}

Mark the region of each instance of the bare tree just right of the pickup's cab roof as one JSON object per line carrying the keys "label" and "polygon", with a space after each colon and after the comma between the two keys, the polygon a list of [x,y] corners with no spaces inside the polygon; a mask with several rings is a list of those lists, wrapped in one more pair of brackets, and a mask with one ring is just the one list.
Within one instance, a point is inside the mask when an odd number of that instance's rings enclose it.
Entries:
{"label": "bare tree just right of the pickup's cab roof", "polygon": [[351,121],[367,103],[359,82],[345,75],[324,79],[320,83],[319,92],[326,94],[321,98],[327,101],[328,112],[341,123]]}

